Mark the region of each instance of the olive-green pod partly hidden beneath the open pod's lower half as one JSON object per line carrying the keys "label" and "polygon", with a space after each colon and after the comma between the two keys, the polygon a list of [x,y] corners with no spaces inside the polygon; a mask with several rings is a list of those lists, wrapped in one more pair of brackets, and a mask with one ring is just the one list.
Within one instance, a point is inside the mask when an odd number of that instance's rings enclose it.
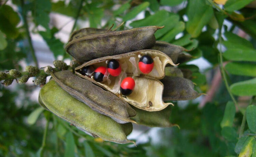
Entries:
{"label": "olive-green pod partly hidden beneath the open pod's lower half", "polygon": [[172,127],[175,124],[171,124],[169,117],[171,115],[171,106],[167,108],[156,111],[148,112],[144,110],[137,109],[132,107],[136,111],[136,116],[132,117],[134,121],[139,125],[145,125],[148,127]]}

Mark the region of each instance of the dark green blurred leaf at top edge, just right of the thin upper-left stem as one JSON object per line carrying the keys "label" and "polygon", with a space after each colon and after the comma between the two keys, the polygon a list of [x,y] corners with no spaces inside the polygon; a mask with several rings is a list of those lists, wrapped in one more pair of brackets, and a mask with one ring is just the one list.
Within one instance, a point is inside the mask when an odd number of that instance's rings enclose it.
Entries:
{"label": "dark green blurred leaf at top edge, just right of the thin upper-left stem", "polygon": [[48,29],[48,23],[50,22],[49,14],[51,12],[51,1],[50,0],[34,0],[32,15],[34,17],[35,25],[42,25]]}

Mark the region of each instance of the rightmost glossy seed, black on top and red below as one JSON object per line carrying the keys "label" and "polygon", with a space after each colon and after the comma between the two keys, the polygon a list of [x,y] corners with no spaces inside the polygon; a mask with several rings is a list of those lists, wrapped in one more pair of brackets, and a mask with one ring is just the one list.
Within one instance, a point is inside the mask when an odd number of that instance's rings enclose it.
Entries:
{"label": "rightmost glossy seed, black on top and red below", "polygon": [[150,73],[154,68],[153,59],[148,55],[142,56],[139,61],[139,68],[144,74]]}

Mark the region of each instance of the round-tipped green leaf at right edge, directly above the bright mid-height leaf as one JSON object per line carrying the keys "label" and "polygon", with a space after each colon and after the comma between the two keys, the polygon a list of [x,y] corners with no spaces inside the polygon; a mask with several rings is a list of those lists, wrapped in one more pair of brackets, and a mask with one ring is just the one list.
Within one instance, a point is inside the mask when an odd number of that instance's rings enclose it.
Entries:
{"label": "round-tipped green leaf at right edge, directly above the bright mid-height leaf", "polygon": [[234,75],[256,76],[256,64],[229,62],[225,69]]}

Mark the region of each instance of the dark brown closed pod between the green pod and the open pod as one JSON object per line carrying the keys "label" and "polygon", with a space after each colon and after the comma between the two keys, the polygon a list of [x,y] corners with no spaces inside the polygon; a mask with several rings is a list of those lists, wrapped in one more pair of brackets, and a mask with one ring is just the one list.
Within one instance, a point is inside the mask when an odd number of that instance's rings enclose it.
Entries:
{"label": "dark brown closed pod between the green pod and the open pod", "polygon": [[62,89],[94,111],[109,116],[118,123],[134,122],[129,117],[135,116],[136,112],[127,102],[117,98],[111,92],[103,90],[68,70],[52,73],[52,77]]}

